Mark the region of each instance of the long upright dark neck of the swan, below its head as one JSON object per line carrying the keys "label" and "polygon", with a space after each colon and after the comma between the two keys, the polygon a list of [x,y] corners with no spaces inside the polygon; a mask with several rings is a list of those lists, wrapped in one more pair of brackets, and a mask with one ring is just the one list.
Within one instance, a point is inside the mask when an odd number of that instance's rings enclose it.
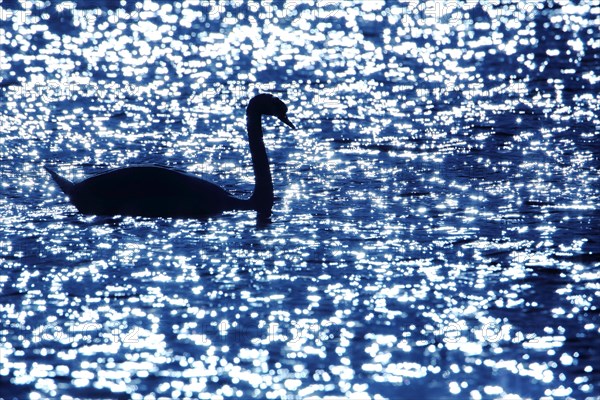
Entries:
{"label": "long upright dark neck of the swan, below its head", "polygon": [[246,121],[256,185],[250,201],[259,212],[270,213],[273,207],[273,179],[263,141],[261,114],[248,110]]}

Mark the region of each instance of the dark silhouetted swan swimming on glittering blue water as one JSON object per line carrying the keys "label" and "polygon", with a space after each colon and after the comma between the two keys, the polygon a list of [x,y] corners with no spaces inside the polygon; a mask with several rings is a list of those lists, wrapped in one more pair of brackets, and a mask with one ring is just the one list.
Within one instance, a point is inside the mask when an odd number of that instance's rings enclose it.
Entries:
{"label": "dark silhouetted swan swimming on glittering blue water", "polygon": [[259,94],[248,103],[246,125],[255,178],[249,199],[237,198],[189,173],[160,166],[119,168],[79,183],[45,168],[84,214],[195,218],[227,210],[256,210],[268,217],[273,207],[273,180],[263,142],[263,115],[273,115],[295,129],[287,117],[287,106],[277,97]]}

